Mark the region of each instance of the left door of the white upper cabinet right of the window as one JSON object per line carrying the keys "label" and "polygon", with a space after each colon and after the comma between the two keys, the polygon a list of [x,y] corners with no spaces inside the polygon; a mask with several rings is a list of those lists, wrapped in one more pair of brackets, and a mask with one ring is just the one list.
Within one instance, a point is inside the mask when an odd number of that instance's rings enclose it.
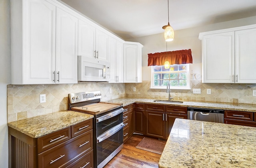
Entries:
{"label": "left door of the white upper cabinet right of the window", "polygon": [[234,83],[234,32],[202,38],[202,82]]}

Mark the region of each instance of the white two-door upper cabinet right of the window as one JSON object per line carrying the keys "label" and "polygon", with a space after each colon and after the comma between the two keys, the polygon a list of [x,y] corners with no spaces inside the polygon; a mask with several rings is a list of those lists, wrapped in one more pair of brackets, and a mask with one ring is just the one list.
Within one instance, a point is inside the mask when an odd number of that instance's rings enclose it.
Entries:
{"label": "white two-door upper cabinet right of the window", "polygon": [[203,83],[256,83],[256,25],[199,34]]}

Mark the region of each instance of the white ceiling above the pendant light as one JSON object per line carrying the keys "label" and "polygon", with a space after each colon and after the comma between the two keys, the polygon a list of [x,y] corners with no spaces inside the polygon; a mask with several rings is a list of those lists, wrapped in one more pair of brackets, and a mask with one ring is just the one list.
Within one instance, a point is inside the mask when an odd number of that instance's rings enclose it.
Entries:
{"label": "white ceiling above the pendant light", "polygon": [[[168,0],[61,0],[124,40],[164,32]],[[256,16],[256,0],[169,0],[175,30]]]}

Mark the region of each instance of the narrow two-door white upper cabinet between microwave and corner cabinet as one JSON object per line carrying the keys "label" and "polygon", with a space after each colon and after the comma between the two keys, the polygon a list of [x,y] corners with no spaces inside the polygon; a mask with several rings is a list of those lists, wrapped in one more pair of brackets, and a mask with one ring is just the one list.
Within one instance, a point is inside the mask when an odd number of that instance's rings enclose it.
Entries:
{"label": "narrow two-door white upper cabinet between microwave and corner cabinet", "polygon": [[110,59],[109,83],[123,83],[123,43],[109,37],[108,52]]}

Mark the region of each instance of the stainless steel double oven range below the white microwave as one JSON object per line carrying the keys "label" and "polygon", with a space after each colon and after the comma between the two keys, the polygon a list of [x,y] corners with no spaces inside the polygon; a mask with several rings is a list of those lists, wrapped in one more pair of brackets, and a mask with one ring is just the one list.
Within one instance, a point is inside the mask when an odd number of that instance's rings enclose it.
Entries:
{"label": "stainless steel double oven range below the white microwave", "polygon": [[100,91],[70,93],[72,111],[94,115],[94,167],[102,168],[123,148],[123,106],[101,102]]}

